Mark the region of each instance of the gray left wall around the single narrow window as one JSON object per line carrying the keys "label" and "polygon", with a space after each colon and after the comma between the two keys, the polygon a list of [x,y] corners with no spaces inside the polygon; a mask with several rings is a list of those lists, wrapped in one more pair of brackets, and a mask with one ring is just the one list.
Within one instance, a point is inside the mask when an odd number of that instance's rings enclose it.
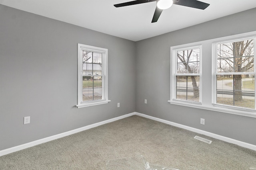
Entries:
{"label": "gray left wall around the single narrow window", "polygon": [[[108,49],[108,104],[74,107],[77,43]],[[135,51],[133,41],[0,5],[0,150],[134,112]]]}

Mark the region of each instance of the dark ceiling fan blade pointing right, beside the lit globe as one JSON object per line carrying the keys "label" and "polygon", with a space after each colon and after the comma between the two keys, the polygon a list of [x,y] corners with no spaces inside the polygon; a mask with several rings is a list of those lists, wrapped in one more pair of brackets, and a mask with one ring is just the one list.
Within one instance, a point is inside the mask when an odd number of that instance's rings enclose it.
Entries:
{"label": "dark ceiling fan blade pointing right, beside the lit globe", "polygon": [[178,2],[176,2],[174,0],[173,4],[181,5],[181,6],[188,6],[191,8],[197,8],[197,9],[201,9],[201,10],[204,10],[205,8],[207,8],[210,5],[210,4],[198,1],[198,0],[178,0]]}

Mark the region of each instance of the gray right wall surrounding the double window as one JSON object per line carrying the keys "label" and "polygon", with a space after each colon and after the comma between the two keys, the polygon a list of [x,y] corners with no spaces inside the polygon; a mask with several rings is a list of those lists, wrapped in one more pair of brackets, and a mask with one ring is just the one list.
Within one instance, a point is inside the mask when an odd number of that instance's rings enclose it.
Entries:
{"label": "gray right wall surrounding the double window", "polygon": [[256,31],[255,16],[256,8],[136,42],[136,111],[256,145],[256,118],[167,102],[171,46]]}

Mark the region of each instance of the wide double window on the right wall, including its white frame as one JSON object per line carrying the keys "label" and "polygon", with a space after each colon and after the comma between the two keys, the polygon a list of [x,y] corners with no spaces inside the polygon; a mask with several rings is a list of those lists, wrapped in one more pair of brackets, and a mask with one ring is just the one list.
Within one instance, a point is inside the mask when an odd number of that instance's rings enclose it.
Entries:
{"label": "wide double window on the right wall, including its white frame", "polygon": [[256,31],[170,47],[170,104],[256,118]]}

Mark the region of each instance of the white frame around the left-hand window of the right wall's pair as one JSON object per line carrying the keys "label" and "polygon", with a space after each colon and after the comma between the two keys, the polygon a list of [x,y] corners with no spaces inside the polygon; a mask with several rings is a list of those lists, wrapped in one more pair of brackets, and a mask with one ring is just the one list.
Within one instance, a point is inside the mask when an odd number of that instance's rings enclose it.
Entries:
{"label": "white frame around the left-hand window of the right wall's pair", "polygon": [[[200,49],[200,56],[199,56],[199,63],[200,63],[200,73],[198,74],[191,74],[191,73],[177,73],[177,62],[178,62],[178,58],[177,58],[177,53],[178,51],[183,51],[183,50],[191,50],[191,49]],[[192,45],[192,46],[180,46],[178,48],[171,48],[171,53],[172,53],[172,60],[173,60],[173,64],[172,64],[172,101],[173,102],[181,102],[181,103],[190,103],[190,104],[202,104],[201,100],[201,96],[202,96],[202,45]],[[199,102],[194,102],[194,101],[188,101],[188,100],[179,100],[176,99],[176,76],[199,76]]]}

